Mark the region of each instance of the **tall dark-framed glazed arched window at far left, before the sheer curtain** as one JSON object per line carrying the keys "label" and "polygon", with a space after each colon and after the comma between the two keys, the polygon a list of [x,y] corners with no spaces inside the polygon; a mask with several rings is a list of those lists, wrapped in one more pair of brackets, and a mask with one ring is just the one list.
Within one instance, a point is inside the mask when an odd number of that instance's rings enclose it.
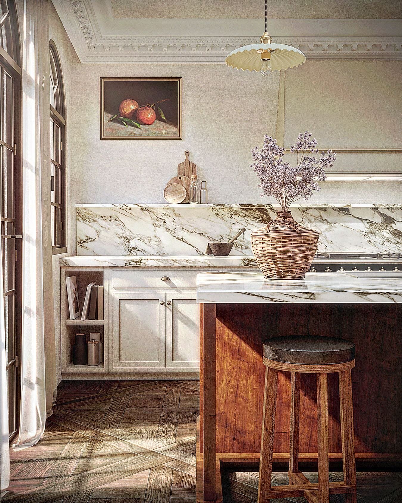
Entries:
{"label": "tall dark-framed glazed arched window at far left, before the sheer curtain", "polygon": [[9,433],[18,430],[22,303],[20,37],[15,0],[0,0],[0,187]]}

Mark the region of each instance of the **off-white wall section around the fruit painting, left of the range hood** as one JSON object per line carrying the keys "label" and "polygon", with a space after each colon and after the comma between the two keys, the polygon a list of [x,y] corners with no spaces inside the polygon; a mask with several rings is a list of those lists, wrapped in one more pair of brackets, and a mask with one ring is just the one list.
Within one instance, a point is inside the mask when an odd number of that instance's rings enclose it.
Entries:
{"label": "off-white wall section around the fruit painting, left of the range hood", "polygon": [[[183,78],[183,139],[100,140],[99,77],[159,75]],[[278,75],[260,77],[224,65],[77,65],[72,202],[164,202],[186,149],[212,202],[248,201],[256,186],[250,148],[276,125]]]}

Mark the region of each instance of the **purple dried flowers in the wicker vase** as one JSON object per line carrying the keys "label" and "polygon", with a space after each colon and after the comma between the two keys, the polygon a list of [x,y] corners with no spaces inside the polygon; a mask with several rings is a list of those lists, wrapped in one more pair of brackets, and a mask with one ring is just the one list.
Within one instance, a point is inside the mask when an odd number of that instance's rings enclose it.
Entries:
{"label": "purple dried flowers in the wicker vase", "polygon": [[317,182],[326,180],[325,170],[333,166],[336,153],[327,150],[319,158],[310,156],[319,150],[317,140],[308,131],[300,133],[297,143],[290,147],[291,152],[297,153],[295,167],[284,162],[284,151],[274,138],[265,135],[262,148],[251,150],[254,161],[251,167],[260,179],[261,196],[273,196],[282,210],[287,211],[292,202],[301,198],[307,201],[314,191],[320,190]]}

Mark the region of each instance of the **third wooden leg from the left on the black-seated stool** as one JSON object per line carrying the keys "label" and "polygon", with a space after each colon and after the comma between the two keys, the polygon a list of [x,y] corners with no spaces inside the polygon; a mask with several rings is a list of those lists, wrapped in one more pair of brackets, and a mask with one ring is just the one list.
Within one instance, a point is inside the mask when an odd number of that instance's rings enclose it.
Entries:
{"label": "third wooden leg from the left on the black-seated stool", "polygon": [[329,503],[328,463],[328,378],[317,374],[317,420],[318,420],[318,496],[320,503]]}

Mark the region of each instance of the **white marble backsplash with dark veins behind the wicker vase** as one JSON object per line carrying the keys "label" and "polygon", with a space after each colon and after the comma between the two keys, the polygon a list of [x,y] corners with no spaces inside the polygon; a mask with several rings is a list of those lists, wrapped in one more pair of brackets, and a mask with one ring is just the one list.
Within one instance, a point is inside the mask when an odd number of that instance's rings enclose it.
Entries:
{"label": "white marble backsplash with dark veins behind the wicker vase", "polygon": [[[252,255],[250,233],[276,217],[273,205],[76,205],[77,255],[203,255],[209,241]],[[402,205],[294,205],[293,218],[320,233],[319,251],[402,253]]]}

